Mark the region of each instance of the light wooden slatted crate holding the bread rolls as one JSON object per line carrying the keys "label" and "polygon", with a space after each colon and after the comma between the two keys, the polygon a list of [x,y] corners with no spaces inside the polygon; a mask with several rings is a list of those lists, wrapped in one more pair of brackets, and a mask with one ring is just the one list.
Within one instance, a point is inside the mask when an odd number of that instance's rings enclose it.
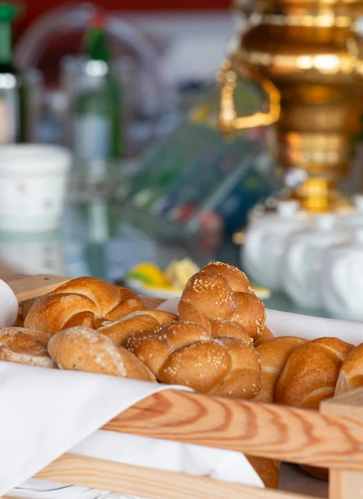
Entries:
{"label": "light wooden slatted crate holding the bread rolls", "polygon": [[[66,281],[35,275],[16,276],[8,284],[25,315],[37,297]],[[144,301],[155,308],[163,300]],[[170,389],[135,404],[102,429],[328,467],[330,499],[363,498],[363,389],[326,400],[319,412]],[[36,478],[150,499],[313,498],[70,454]]]}

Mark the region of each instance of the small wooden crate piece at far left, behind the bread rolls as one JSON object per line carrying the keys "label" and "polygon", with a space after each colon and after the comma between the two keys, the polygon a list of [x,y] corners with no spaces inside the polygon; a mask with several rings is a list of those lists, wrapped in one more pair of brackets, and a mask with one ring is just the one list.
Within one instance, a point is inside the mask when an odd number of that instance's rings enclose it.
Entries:
{"label": "small wooden crate piece at far left, behind the bread rolls", "polygon": [[69,277],[41,274],[17,276],[6,282],[12,288],[15,295],[17,295],[18,302],[20,303],[46,295],[46,293],[50,293],[50,291],[53,291],[69,280]]}

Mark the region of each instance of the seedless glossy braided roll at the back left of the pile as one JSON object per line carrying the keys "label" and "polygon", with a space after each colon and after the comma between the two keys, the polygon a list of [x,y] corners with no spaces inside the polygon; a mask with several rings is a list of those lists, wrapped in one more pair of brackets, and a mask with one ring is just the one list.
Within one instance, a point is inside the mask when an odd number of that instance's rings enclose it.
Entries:
{"label": "seedless glossy braided roll at the back left of the pile", "polygon": [[51,335],[72,326],[98,329],[146,306],[136,293],[96,277],[79,277],[43,296],[30,309],[24,327]]}

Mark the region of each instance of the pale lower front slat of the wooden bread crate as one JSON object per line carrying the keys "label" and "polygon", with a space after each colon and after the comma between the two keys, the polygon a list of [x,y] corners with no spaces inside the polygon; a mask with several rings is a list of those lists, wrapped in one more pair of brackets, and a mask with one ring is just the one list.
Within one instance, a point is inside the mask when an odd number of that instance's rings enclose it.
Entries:
{"label": "pale lower front slat of the wooden bread crate", "polygon": [[313,499],[232,482],[65,454],[35,478],[149,499]]}

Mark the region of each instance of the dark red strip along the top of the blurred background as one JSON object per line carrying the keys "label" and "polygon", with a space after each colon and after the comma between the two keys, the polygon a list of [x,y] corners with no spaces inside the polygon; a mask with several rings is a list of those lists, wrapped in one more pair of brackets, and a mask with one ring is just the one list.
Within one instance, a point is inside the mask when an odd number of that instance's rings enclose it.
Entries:
{"label": "dark red strip along the top of the blurred background", "polygon": [[[16,37],[41,14],[65,3],[64,0],[23,0],[23,15],[16,23]],[[230,7],[230,0],[98,0],[93,1],[103,10],[213,10]]]}

